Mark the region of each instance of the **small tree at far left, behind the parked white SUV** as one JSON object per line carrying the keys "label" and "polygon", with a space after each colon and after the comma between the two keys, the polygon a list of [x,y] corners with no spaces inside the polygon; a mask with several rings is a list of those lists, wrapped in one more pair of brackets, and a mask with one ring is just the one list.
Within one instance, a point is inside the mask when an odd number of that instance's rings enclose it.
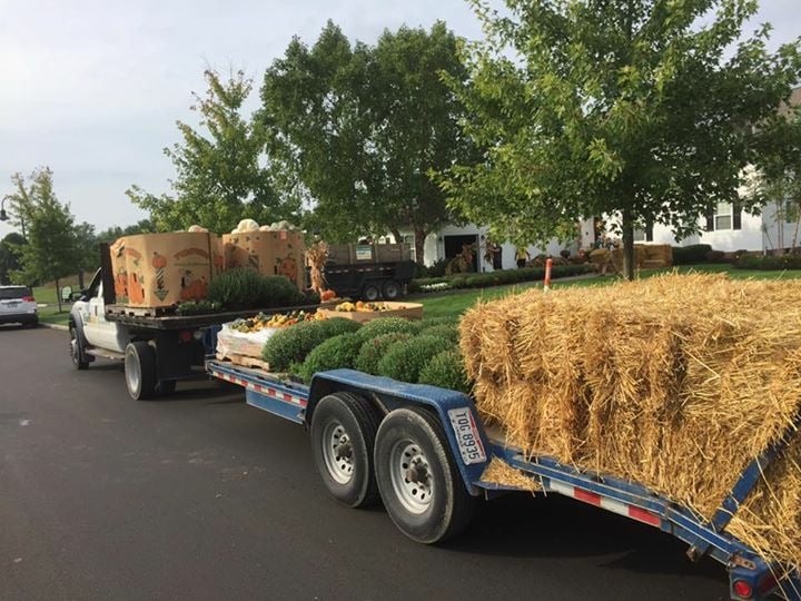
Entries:
{"label": "small tree at far left, behind the parked white SUV", "polygon": [[[56,280],[59,289],[59,279],[76,273],[80,263],[69,206],[56,198],[52,171],[47,167],[30,175],[29,186],[19,174],[12,179],[18,191],[11,198],[26,223],[28,242],[21,247],[21,268],[12,277],[24,283]],[[56,296],[61,312],[61,295]]]}

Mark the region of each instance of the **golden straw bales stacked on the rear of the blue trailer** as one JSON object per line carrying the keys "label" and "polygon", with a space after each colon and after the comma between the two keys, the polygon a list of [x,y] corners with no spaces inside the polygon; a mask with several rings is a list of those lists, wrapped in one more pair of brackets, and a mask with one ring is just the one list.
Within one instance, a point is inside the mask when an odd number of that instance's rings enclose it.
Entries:
{"label": "golden straw bales stacked on the rear of the blue trailer", "polygon": [[[801,282],[669,275],[478,305],[467,375],[511,444],[629,479],[711,519],[801,410]],[[726,530],[801,564],[801,434]]]}

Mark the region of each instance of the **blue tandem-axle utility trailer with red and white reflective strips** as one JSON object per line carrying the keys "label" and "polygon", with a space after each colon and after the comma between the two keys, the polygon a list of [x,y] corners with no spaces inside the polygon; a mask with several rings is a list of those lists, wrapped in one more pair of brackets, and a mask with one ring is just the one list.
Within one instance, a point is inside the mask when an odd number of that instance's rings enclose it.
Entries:
{"label": "blue tandem-axle utility trailer with red and white reflective strips", "polygon": [[733,600],[801,600],[798,566],[772,565],[724,532],[785,444],[754,460],[709,521],[636,483],[547,456],[526,457],[506,444],[503,432],[484,427],[473,400],[462,393],[354,370],[316,374],[310,386],[215,359],[207,362],[207,371],[245,388],[248,404],[306,427],[328,492],[352,508],[380,499],[395,525],[415,541],[436,543],[459,533],[478,497],[514,490],[482,481],[497,457],[534,479],[545,494],[571,496],[659,528],[689,543],[693,561],[716,559],[729,571]]}

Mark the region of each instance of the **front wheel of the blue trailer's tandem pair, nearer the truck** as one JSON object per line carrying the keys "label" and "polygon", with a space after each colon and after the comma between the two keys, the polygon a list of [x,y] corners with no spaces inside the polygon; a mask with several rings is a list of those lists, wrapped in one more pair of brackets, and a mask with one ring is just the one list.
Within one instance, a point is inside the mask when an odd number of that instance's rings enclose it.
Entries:
{"label": "front wheel of the blue trailer's tandem pair, nearer the truck", "polygon": [[312,447],[323,483],[348,508],[374,505],[378,487],[373,447],[378,415],[363,397],[339,392],[324,396],[312,416]]}

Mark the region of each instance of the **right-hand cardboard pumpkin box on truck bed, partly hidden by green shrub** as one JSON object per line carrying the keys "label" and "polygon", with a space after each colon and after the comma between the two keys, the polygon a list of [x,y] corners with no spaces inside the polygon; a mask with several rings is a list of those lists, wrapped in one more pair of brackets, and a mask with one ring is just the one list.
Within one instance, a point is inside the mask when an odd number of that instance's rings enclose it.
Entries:
{"label": "right-hand cardboard pumpkin box on truck bed, partly hidden by green shrub", "polygon": [[283,275],[304,289],[306,248],[300,231],[225,234],[222,243],[226,269],[247,267],[264,275]]}

